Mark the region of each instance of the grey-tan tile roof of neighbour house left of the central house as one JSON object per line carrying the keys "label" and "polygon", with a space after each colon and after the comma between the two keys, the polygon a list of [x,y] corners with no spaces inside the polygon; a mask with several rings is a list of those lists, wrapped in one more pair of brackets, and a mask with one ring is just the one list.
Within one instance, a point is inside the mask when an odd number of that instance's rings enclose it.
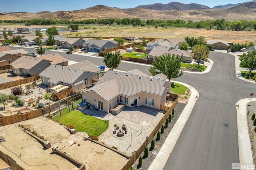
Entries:
{"label": "grey-tan tile roof of neighbour house left of the central house", "polygon": [[51,83],[57,84],[59,81],[63,81],[65,83],[73,84],[83,73],[84,70],[52,64],[39,75],[41,77],[50,78],[49,82]]}

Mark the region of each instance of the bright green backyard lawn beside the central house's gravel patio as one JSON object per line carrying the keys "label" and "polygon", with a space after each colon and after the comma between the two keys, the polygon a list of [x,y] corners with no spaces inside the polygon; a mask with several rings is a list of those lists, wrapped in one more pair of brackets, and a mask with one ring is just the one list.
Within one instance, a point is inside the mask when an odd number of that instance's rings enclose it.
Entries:
{"label": "bright green backyard lawn beside the central house's gravel patio", "polygon": [[70,111],[68,114],[58,118],[61,123],[73,125],[76,132],[86,132],[89,136],[100,136],[109,126],[108,121],[84,115],[80,111]]}

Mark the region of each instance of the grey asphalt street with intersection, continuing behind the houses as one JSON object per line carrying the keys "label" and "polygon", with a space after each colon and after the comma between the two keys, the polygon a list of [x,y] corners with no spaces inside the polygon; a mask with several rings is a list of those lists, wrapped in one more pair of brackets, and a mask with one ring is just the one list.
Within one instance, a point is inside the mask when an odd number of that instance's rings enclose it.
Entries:
{"label": "grey asphalt street with intersection, continuing behind the houses", "polygon": [[[35,49],[31,51],[36,53]],[[97,57],[59,53],[72,61],[88,59],[95,65],[104,65]],[[209,73],[184,73],[175,79],[195,87],[200,98],[164,170],[230,170],[232,163],[239,163],[235,103],[256,93],[255,85],[235,76],[234,56],[210,52],[209,58],[214,61]],[[136,68],[148,73],[149,67],[126,62],[118,67],[124,71]]]}

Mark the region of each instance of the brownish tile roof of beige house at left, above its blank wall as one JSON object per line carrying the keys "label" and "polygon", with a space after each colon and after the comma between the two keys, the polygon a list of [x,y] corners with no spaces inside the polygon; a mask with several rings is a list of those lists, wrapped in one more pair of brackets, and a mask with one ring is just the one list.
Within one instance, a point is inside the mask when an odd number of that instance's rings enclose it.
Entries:
{"label": "brownish tile roof of beige house at left, above its blank wall", "polygon": [[40,63],[40,61],[42,61],[42,59],[23,55],[20,58],[13,61],[12,63],[10,63],[10,65],[12,65],[12,67],[14,67],[15,69],[24,68],[29,70],[36,64]]}

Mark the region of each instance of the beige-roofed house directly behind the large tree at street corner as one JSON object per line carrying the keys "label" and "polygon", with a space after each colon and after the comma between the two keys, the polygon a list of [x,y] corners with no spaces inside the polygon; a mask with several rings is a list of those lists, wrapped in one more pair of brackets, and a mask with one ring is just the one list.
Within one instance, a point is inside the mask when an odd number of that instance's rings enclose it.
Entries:
{"label": "beige-roofed house directly behind the large tree at street corner", "polygon": [[189,51],[180,50],[180,49],[172,49],[171,47],[161,47],[161,46],[155,46],[149,53],[148,53],[148,59],[154,60],[155,57],[159,57],[163,55],[164,53],[170,53],[171,55],[180,55],[182,56],[181,62],[183,63],[191,63],[192,55]]}

